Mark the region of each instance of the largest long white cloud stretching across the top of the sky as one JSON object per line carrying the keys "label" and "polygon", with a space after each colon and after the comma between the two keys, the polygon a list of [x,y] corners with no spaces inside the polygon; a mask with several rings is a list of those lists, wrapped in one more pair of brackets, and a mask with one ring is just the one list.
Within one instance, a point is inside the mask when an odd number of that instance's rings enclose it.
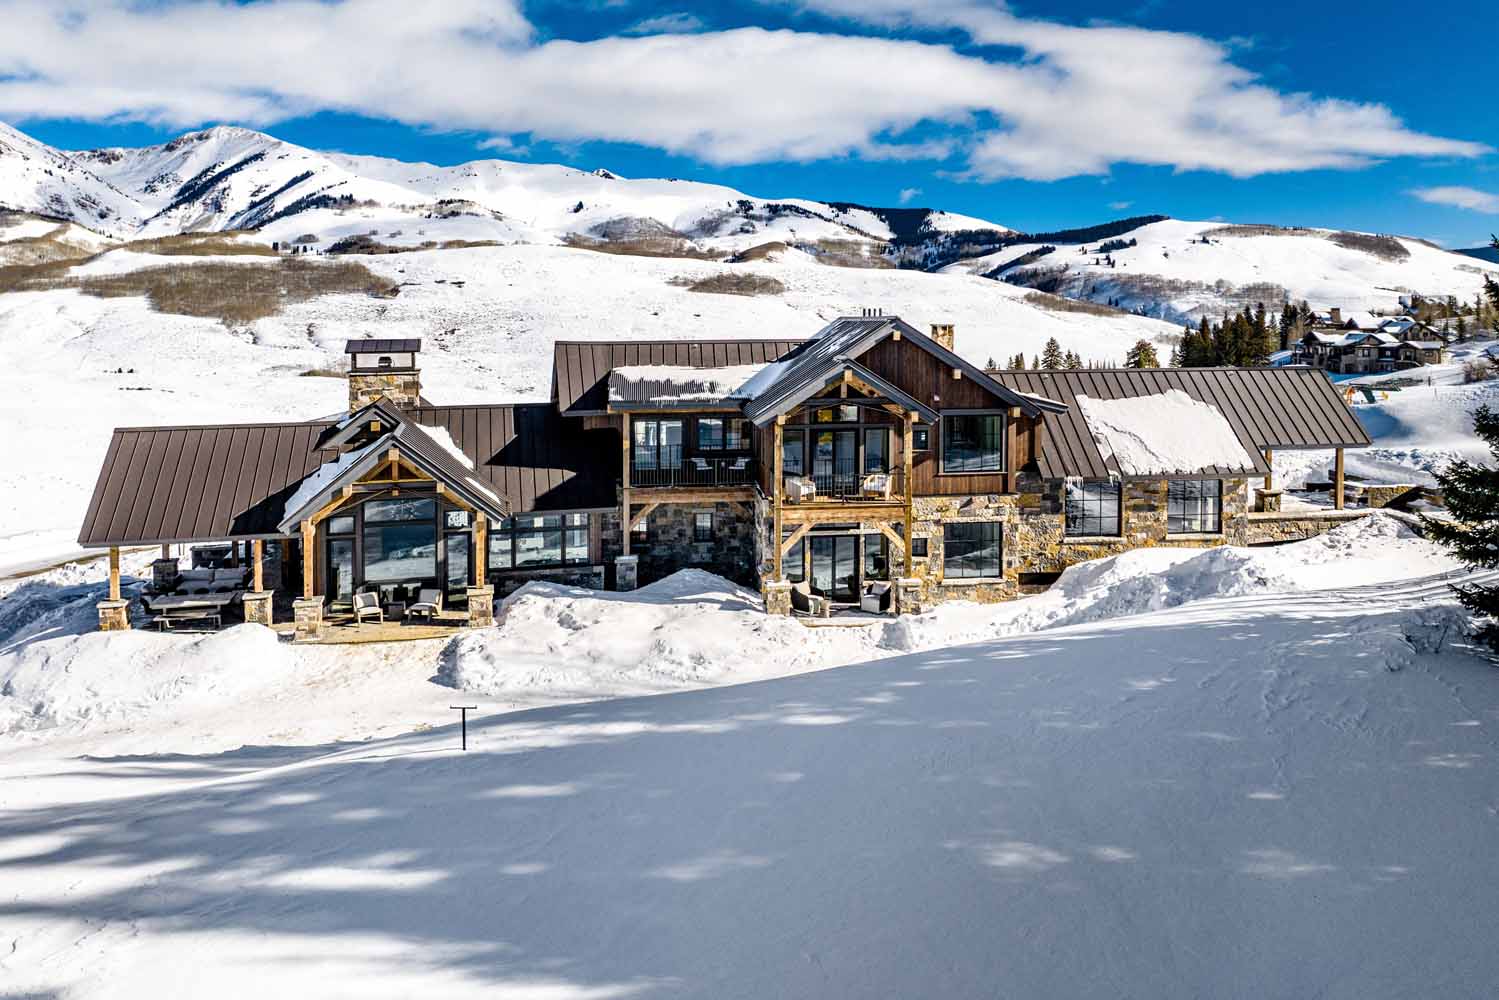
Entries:
{"label": "largest long white cloud stretching across the top of the sky", "polygon": [[519,0],[0,0],[0,118],[264,126],[331,109],[640,142],[714,163],[961,156],[962,175],[982,180],[1114,163],[1252,175],[1486,151],[1415,132],[1382,105],[1279,93],[1198,36],[1072,27],[964,0],[812,3],[917,34],[958,30],[1019,57],[913,37],[663,33],[666,22],[543,42]]}

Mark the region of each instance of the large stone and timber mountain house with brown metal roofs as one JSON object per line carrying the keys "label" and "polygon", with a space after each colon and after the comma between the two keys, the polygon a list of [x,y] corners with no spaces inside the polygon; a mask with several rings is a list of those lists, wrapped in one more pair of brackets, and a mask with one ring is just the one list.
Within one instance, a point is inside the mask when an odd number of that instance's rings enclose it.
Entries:
{"label": "large stone and timber mountain house with brown metal roofs", "polygon": [[950,325],[884,315],[806,340],[558,342],[546,403],[439,406],[418,340],[346,349],[339,420],[114,432],[79,534],[115,567],[102,628],[130,624],[120,547],[157,544],[163,627],[280,603],[301,639],[418,609],[484,625],[528,580],[685,567],[770,613],[1007,600],[1130,547],[1244,543],[1271,450],[1342,469],[1369,444],[1312,369],[986,372]]}

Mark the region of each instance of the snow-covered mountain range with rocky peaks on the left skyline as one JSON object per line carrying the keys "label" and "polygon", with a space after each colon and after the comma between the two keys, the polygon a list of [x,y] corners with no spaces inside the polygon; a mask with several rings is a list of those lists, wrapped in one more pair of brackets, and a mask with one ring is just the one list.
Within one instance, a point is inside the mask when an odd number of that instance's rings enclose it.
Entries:
{"label": "snow-covered mountain range with rocky peaks on the left skyline", "polygon": [[[9,142],[6,142],[9,139]],[[219,126],[162,145],[63,153],[0,132],[0,207],[58,216],[118,237],[259,229],[327,246],[373,237],[447,240],[693,240],[733,253],[763,243],[878,252],[898,240],[1006,226],[925,208],[764,199],[721,184],[627,180],[607,169],[499,159],[457,166],[318,153]],[[351,210],[358,208],[355,214]]]}

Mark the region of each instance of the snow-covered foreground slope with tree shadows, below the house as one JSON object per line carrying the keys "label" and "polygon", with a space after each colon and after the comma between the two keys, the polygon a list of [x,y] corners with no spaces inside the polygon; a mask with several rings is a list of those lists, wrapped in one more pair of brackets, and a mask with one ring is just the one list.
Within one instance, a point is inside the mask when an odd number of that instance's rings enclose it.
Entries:
{"label": "snow-covered foreground slope with tree shadows, below the house", "polygon": [[0,595],[7,993],[1480,997],[1499,976],[1499,675],[1465,646],[1462,571],[1391,516],[868,630],[766,619],[687,573],[531,586],[447,645],[81,636],[90,573],[27,585],[73,588],[40,621]]}

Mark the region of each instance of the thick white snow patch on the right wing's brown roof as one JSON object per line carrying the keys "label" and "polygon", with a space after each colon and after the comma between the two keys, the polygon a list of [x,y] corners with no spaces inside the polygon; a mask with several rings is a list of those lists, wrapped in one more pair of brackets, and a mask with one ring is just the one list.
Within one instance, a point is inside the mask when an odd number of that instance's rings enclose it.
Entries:
{"label": "thick white snow patch on the right wing's brown roof", "polygon": [[1115,460],[1120,475],[1255,468],[1217,406],[1192,399],[1180,388],[1129,399],[1076,399],[1093,441],[1105,460]]}

